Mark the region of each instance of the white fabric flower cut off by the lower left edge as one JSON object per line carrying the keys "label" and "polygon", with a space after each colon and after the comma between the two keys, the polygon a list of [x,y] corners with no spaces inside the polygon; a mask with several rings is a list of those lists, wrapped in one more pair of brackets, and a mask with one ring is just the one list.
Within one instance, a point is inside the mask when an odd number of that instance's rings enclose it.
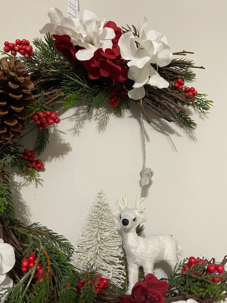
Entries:
{"label": "white fabric flower cut off by the lower left edge", "polygon": [[[6,276],[15,264],[14,249],[10,244],[4,243],[0,238],[0,292],[3,288],[12,287],[13,280]],[[4,299],[2,298],[3,302]]]}

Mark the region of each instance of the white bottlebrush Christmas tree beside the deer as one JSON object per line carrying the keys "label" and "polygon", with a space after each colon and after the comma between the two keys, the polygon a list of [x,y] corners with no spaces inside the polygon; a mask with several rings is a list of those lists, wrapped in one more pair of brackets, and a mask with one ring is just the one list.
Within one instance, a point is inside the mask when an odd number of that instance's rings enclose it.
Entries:
{"label": "white bottlebrush Christmas tree beside the deer", "polygon": [[78,270],[92,267],[117,287],[124,283],[123,252],[115,219],[106,200],[99,191],[82,228],[72,255],[72,264]]}

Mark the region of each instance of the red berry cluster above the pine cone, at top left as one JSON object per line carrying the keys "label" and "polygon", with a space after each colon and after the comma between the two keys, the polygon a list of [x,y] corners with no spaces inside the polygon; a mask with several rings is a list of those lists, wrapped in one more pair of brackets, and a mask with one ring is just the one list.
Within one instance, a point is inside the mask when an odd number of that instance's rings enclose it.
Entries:
{"label": "red berry cluster above the pine cone, at top left", "polygon": [[17,39],[15,43],[9,43],[8,41],[5,41],[4,45],[5,47],[3,49],[4,51],[6,51],[6,53],[9,53],[11,51],[11,53],[16,56],[18,52],[23,55],[25,59],[28,59],[34,55],[32,46],[30,45],[30,42],[26,39]]}

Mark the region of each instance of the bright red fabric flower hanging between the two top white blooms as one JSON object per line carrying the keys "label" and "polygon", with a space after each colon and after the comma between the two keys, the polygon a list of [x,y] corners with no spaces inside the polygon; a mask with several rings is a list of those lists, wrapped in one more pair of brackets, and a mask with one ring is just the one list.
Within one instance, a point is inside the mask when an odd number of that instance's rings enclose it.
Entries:
{"label": "bright red fabric flower hanging between the two top white blooms", "polygon": [[94,52],[94,56],[90,60],[84,61],[84,67],[88,71],[90,79],[98,79],[101,76],[112,78],[115,81],[125,82],[128,78],[128,69],[125,61],[121,58],[120,48],[107,48],[105,52],[99,48]]}

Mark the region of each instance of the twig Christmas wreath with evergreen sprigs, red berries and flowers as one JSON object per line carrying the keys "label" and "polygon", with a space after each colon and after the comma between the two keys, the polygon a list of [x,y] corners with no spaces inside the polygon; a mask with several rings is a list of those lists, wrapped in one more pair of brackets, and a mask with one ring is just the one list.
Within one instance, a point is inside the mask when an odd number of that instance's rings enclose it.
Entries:
{"label": "twig Christmas wreath with evergreen sprigs, red berries and flowers", "polygon": [[[39,178],[44,163],[38,156],[48,144],[49,127],[60,123],[55,111],[58,103],[64,109],[87,100],[91,111],[109,100],[114,115],[121,115],[135,102],[148,123],[147,109],[191,129],[196,128],[196,122],[188,108],[205,114],[213,103],[206,94],[185,85],[195,80],[195,68],[203,69],[186,59],[192,52],[172,53],[165,36],[145,31],[146,18],[138,28],[121,28],[113,21],[101,22],[90,11],[83,15],[76,11],[72,20],[52,8],[48,16],[50,23],[40,30],[44,39],[33,41],[35,49],[26,39],[6,41],[5,57],[0,59],[0,299],[11,303],[161,303],[187,299],[213,303],[224,299],[226,258],[221,264],[214,259],[184,259],[163,280],[152,274],[145,277],[141,269],[140,281],[125,295],[127,260],[115,227],[112,240],[119,258],[112,255],[101,260],[106,273],[109,265],[105,263],[112,262],[115,276],[108,279],[92,262],[87,268],[75,264],[75,260],[82,262],[86,243],[77,247],[77,259],[75,252],[73,259],[74,247],[64,236],[39,223],[26,226],[16,219],[8,167],[30,181]],[[27,133],[37,134],[33,150],[20,144],[26,128]],[[90,216],[98,218],[99,224],[112,222],[114,226],[102,192]],[[138,225],[138,236],[142,230]]]}

